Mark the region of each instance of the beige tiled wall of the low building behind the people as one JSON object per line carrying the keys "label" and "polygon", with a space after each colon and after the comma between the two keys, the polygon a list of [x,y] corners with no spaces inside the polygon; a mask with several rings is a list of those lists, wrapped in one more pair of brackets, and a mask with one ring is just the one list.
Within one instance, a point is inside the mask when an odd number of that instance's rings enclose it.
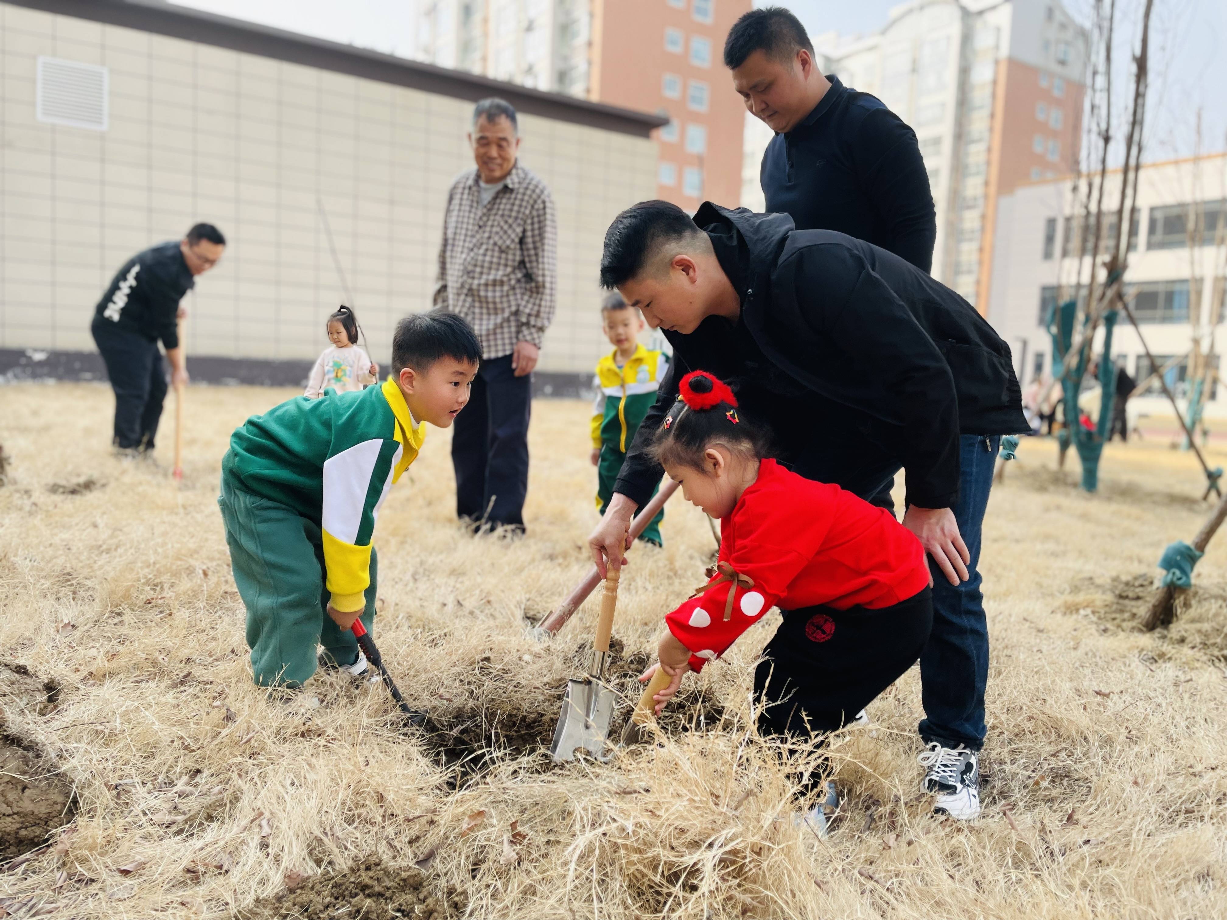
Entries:
{"label": "beige tiled wall of the low building behind the people", "polygon": [[[93,348],[90,318],[133,254],[216,223],[189,353],[313,358],[345,299],[374,356],[427,309],[447,189],[472,166],[471,104],[331,71],[0,4],[0,347]],[[103,132],[34,119],[37,55],[106,65]],[[607,348],[596,271],[612,217],[655,193],[655,144],[523,115],[521,162],[558,209],[558,312],[542,370]]]}

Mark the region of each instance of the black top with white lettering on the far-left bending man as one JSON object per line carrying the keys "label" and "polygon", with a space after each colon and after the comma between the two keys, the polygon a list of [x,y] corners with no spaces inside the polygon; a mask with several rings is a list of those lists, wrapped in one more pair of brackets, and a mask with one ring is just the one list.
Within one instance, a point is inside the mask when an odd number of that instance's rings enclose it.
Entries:
{"label": "black top with white lettering on the far-left bending man", "polygon": [[151,342],[161,339],[167,348],[178,348],[175,314],[195,283],[179,242],[160,243],[124,263],[98,301],[93,321],[114,323]]}

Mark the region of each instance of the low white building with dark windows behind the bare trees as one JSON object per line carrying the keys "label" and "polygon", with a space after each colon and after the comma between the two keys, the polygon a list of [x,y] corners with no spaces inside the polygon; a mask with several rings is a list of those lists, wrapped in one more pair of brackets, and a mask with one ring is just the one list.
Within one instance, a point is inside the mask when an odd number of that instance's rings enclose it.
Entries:
{"label": "low white building with dark windows behind the bare trees", "polygon": [[[1120,172],[1112,171],[1104,182],[1106,213],[1117,210],[1119,196]],[[1023,386],[1052,369],[1053,343],[1045,316],[1052,303],[1074,296],[1081,200],[1074,179],[1064,178],[1023,185],[998,205],[988,318],[1014,350]],[[1171,364],[1164,379],[1180,397],[1185,395],[1187,356],[1194,340],[1202,353],[1217,356],[1227,347],[1222,334],[1225,218],[1227,153],[1142,167],[1125,293],[1155,362],[1160,368]],[[1101,236],[1110,239],[1115,217],[1106,223]],[[1083,285],[1086,277],[1083,267]],[[1101,332],[1097,350],[1102,341]],[[1141,337],[1124,314],[1117,324],[1112,352],[1139,383],[1151,375]],[[1214,357],[1211,367],[1216,366]],[[1157,381],[1137,397],[1135,407],[1153,416],[1172,412]],[[1211,390],[1206,415],[1227,416],[1221,386]]]}

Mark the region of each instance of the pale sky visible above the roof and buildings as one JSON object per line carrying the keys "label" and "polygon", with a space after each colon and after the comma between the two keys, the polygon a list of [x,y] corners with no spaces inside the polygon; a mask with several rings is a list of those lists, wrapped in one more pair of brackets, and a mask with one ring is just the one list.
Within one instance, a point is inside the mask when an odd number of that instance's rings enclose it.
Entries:
{"label": "pale sky visible above the roof and buildings", "polygon": [[[175,0],[222,16],[263,22],[334,42],[410,55],[417,0]],[[1040,2],[1042,0],[1020,0]],[[821,32],[865,33],[881,27],[894,0],[775,0]],[[1080,21],[1091,0],[1066,0]],[[1118,17],[1137,21],[1142,0],[1118,0]],[[764,5],[756,0],[756,6]],[[1196,113],[1202,109],[1202,150],[1227,150],[1227,2],[1156,0],[1151,48],[1152,92],[1147,102],[1146,161],[1189,156]],[[1119,55],[1123,60],[1124,54]],[[1121,88],[1130,81],[1124,72]],[[1119,93],[1124,98],[1124,93]]]}

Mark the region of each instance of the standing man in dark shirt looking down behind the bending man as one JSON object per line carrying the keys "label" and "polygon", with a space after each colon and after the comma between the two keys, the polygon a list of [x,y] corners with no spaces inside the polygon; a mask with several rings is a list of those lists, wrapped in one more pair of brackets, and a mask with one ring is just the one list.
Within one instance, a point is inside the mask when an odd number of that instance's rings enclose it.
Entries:
{"label": "standing man in dark shirt looking down behind the bending man", "polygon": [[931,271],[937,223],[912,129],[874,96],[823,76],[805,27],[778,6],[737,20],[724,64],[746,108],[775,131],[760,173],[767,211]]}

